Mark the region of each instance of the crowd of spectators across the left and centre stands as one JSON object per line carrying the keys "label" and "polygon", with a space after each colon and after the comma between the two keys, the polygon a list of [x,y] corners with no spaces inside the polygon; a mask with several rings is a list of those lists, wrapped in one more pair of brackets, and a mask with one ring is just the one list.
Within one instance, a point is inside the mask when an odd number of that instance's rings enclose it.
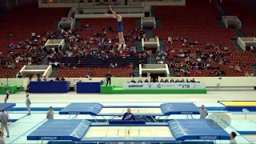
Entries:
{"label": "crowd of spectators across the left and centre stands", "polygon": [[[89,24],[83,24],[82,29],[92,31]],[[144,30],[130,30],[124,35],[125,40],[130,45],[126,47],[122,53],[118,52],[118,37],[108,38],[107,33],[113,33],[114,30],[110,26],[102,28],[102,31],[90,35],[88,38],[82,38],[79,33],[82,29],[75,30],[59,30],[56,32],[43,31],[42,34],[31,33],[30,38],[26,38],[19,42],[11,42],[8,47],[7,58],[2,56],[0,52],[0,66],[2,68],[15,68],[18,63],[24,65],[42,64],[46,57],[48,58],[84,58],[92,56],[94,58],[105,60],[107,58],[130,56],[145,57],[144,53],[138,53],[135,40],[141,39],[145,35]],[[46,47],[47,39],[55,39],[61,36],[70,44],[64,49],[62,46]],[[88,36],[88,35],[87,35]],[[15,35],[9,34],[8,37],[13,38]],[[78,62],[78,65],[81,62]],[[72,66],[70,63],[50,62],[55,66]]]}

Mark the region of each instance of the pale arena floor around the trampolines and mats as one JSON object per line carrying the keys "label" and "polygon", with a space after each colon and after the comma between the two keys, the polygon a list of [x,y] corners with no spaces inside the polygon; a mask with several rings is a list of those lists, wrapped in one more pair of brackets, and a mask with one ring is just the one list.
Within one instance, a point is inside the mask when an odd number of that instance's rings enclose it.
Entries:
{"label": "pale arena floor around the trampolines and mats", "polygon": [[[12,94],[8,102],[16,103],[18,107],[25,107],[26,93]],[[2,101],[5,95],[1,95]],[[64,107],[72,102],[99,102],[104,106],[158,106],[164,102],[198,102],[209,103],[218,101],[255,101],[256,91],[243,90],[243,91],[211,91],[207,94],[76,94],[70,92],[68,94],[30,94],[32,102],[31,107]],[[122,111],[122,110],[118,110]],[[136,111],[136,110],[134,110]],[[214,111],[209,111],[213,113]],[[245,115],[242,113],[228,113],[231,118],[231,125],[225,130],[230,133],[233,131],[233,127],[239,129],[254,129],[250,123],[245,119]],[[18,121],[10,123],[10,138],[6,138],[6,143],[35,143],[26,141],[26,136],[35,130],[38,126],[46,122],[46,111],[32,111],[30,116],[26,115],[26,111],[10,111],[10,119],[18,119]],[[111,111],[104,111],[104,113],[111,113]],[[74,118],[72,115],[70,118]],[[88,116],[79,115],[78,119],[87,118]],[[58,111],[54,111],[55,119],[67,118],[65,115],[58,115]],[[183,115],[173,115],[170,118],[186,118]],[[256,113],[250,113],[247,115],[247,120],[256,122]],[[116,130],[105,130],[106,133],[116,133]],[[137,131],[137,130],[136,130]],[[91,130],[91,135],[97,133],[97,130]],[[120,133],[121,135],[125,133]],[[110,134],[111,135],[111,134]],[[240,135],[236,138],[239,144],[256,143],[256,135]],[[41,143],[41,142],[38,142]],[[47,143],[47,142],[42,142]],[[222,141],[217,143],[229,143],[228,141]]]}

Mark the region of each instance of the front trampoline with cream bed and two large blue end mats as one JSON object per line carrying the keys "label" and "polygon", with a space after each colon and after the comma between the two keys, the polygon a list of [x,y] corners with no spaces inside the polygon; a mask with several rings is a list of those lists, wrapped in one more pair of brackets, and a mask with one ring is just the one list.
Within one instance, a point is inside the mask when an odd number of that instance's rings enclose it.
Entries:
{"label": "front trampoline with cream bed and two large blue end mats", "polygon": [[[228,140],[221,127],[213,129],[212,120],[178,119],[162,123],[111,123],[86,120],[48,120],[27,136],[27,140],[73,142],[177,142],[186,140]],[[122,122],[122,121],[119,121]],[[218,126],[217,123],[215,125]]]}

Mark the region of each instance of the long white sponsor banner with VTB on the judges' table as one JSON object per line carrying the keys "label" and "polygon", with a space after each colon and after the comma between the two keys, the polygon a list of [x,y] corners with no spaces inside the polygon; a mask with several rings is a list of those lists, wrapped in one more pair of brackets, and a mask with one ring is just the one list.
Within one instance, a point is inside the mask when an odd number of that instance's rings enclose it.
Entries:
{"label": "long white sponsor banner with VTB on the judges' table", "polygon": [[123,83],[123,89],[205,89],[205,83]]}

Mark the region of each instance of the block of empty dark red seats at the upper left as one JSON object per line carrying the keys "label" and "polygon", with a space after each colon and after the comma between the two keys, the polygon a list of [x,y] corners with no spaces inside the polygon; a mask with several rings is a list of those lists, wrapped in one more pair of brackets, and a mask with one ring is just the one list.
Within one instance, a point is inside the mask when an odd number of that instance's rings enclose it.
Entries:
{"label": "block of empty dark red seats at the upper left", "polygon": [[[45,30],[53,30],[54,26],[57,25],[60,18],[65,16],[65,14],[70,10],[70,8],[38,8],[38,5],[26,5],[18,6],[13,10],[10,10],[1,19],[3,21],[0,26],[0,52],[2,52],[3,59],[10,59],[7,57],[12,54],[20,54],[22,50],[10,50],[8,45],[11,42],[23,41],[25,38],[31,38],[31,33],[42,34]],[[21,13],[22,11],[22,13]],[[8,38],[8,35],[12,34],[12,38]],[[26,51],[26,53],[29,53]],[[14,62],[13,62],[14,63]],[[0,78],[6,77],[6,71],[8,71],[7,76],[14,77],[18,70],[22,66],[26,65],[25,62],[19,62],[16,64],[16,68],[10,70],[11,68],[4,69],[0,72]]]}

